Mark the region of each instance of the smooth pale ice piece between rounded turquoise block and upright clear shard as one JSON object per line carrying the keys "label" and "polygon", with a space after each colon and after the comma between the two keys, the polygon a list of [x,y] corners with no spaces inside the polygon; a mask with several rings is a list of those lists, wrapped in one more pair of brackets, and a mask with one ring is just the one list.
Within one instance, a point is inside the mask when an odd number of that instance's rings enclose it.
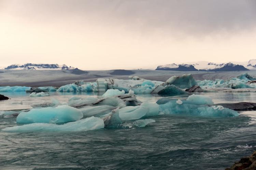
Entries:
{"label": "smooth pale ice piece between rounded turquoise block and upright clear shard", "polygon": [[99,117],[99,116],[110,113],[115,108],[116,107],[114,106],[102,105],[102,106],[86,106],[83,108],[79,108],[79,110],[82,111],[85,117],[90,117],[90,116]]}

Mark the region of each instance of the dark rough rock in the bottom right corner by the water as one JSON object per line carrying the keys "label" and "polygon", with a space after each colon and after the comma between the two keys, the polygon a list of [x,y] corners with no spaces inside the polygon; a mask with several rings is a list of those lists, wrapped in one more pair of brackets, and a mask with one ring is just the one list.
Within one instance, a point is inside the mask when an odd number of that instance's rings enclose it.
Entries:
{"label": "dark rough rock in the bottom right corner by the water", "polygon": [[256,169],[256,151],[251,156],[246,156],[235,162],[230,168],[226,170],[255,170]]}

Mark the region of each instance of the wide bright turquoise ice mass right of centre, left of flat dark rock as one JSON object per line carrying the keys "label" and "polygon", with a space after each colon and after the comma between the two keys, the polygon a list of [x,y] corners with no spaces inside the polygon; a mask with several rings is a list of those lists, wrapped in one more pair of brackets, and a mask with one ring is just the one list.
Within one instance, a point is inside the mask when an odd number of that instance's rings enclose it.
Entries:
{"label": "wide bright turquoise ice mass right of centre, left of flat dark rock", "polygon": [[193,101],[182,101],[183,104],[177,104],[176,100],[169,100],[165,104],[159,105],[159,111],[164,114],[191,115],[203,117],[233,117],[239,116],[239,113],[228,108],[209,107],[207,105],[198,105]]}

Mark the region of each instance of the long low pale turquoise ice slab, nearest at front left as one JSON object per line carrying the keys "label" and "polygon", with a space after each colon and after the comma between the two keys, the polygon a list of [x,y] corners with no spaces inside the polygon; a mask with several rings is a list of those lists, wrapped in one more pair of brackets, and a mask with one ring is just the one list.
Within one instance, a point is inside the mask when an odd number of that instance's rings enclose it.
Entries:
{"label": "long low pale turquoise ice slab, nearest at front left", "polygon": [[31,123],[21,126],[4,128],[2,131],[10,132],[34,132],[34,131],[89,131],[104,128],[104,122],[100,118],[89,117],[66,124]]}

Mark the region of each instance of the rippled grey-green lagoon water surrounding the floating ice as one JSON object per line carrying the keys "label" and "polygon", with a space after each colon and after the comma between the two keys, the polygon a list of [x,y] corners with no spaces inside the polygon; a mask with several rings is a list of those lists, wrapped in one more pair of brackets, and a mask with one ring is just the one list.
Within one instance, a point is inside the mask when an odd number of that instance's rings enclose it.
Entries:
{"label": "rippled grey-green lagoon water surrounding the floating ice", "polygon": [[[31,98],[9,94],[1,110],[29,108],[32,103],[67,102],[73,95]],[[97,96],[98,94],[89,94]],[[101,95],[101,94],[99,94]],[[203,93],[215,103],[253,102],[255,93]],[[138,95],[156,102],[161,96]],[[175,96],[174,98],[187,98]],[[23,104],[12,104],[13,101]],[[0,169],[224,169],[256,150],[256,112],[239,117],[202,118],[177,115],[151,117],[145,128],[86,132],[10,133],[0,131]],[[15,126],[0,118],[0,129]]]}

